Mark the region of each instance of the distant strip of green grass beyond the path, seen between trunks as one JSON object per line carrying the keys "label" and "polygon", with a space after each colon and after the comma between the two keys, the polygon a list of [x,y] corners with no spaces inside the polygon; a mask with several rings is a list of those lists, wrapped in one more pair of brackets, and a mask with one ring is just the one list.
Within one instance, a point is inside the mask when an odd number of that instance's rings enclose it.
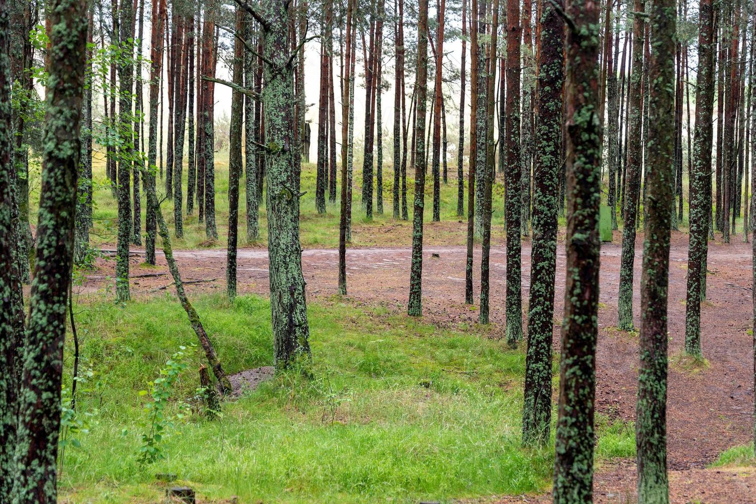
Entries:
{"label": "distant strip of green grass beyond the path, seen between trunks", "polygon": [[[184,156],[186,159],[186,156]],[[414,200],[414,170],[409,167],[407,172],[407,208],[409,220],[395,220],[392,216],[392,187],[393,169],[390,159],[384,163],[383,169],[383,215],[376,213],[376,204],[373,203],[373,218],[367,219],[361,206],[362,162],[355,159],[354,188],[352,192],[352,246],[409,246],[412,238],[412,210]],[[104,155],[95,152],[93,163],[94,172],[94,229],[91,233],[91,243],[95,246],[113,245],[116,243],[116,199],[111,192],[110,182],[105,176]],[[428,245],[463,245],[466,243],[466,209],[465,217],[457,217],[457,168],[456,159],[449,159],[449,181],[441,184],[441,223],[432,223],[432,178],[426,178],[426,205],[425,205],[425,230],[424,241]],[[39,203],[39,163],[33,163],[29,167],[30,177],[30,220],[36,222],[36,209]],[[430,171],[428,172],[430,173]],[[305,248],[333,248],[339,243],[339,195],[340,184],[337,184],[336,203],[327,203],[327,213],[318,214],[315,209],[315,165],[314,163],[302,164],[302,196],[300,207],[300,237],[302,246]],[[685,181],[686,182],[686,181]],[[218,240],[208,240],[205,233],[205,225],[200,224],[197,218],[197,206],[194,214],[186,215],[186,183],[187,168],[183,171],[183,194],[184,194],[184,237],[174,237],[173,246],[176,249],[206,249],[222,248],[226,246],[228,235],[228,151],[221,151],[215,155],[215,210]],[[606,184],[606,174],[604,176]],[[465,182],[466,184],[466,182]],[[687,192],[685,184],[683,193]],[[159,196],[165,193],[165,181],[157,179]],[[603,200],[606,201],[606,185],[603,188]],[[493,187],[493,233],[492,243],[503,243],[503,178],[497,175]],[[240,183],[240,246],[265,246],[267,243],[267,217],[265,204],[260,206],[260,239],[254,243],[246,242],[246,203],[245,203],[244,179]],[[467,189],[465,185],[465,198]],[[327,198],[326,198],[327,199]],[[687,205],[687,198],[685,198]],[[169,227],[173,228],[173,199],[163,201],[161,208]],[[686,207],[687,209],[687,207]],[[142,197],[141,215],[142,232],[144,233],[144,216],[146,212],[146,200]],[[742,221],[742,219],[740,219]],[[739,223],[740,226],[742,223]],[[559,217],[559,229],[565,228],[565,218]],[[739,228],[740,229],[740,228]],[[687,230],[687,210],[680,230]],[[144,240],[143,242],[144,243]]]}

